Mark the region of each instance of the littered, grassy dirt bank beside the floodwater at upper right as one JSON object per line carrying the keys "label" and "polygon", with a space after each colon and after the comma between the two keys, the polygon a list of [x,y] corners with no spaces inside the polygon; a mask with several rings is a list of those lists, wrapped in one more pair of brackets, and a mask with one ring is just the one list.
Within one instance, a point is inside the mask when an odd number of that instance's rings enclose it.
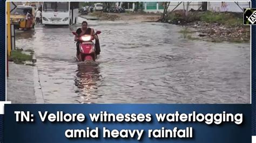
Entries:
{"label": "littered, grassy dirt bank beside the floodwater at upper right", "polygon": [[183,25],[180,33],[191,40],[212,42],[249,42],[250,26],[242,24],[242,13],[233,12],[189,12],[174,11],[164,19],[165,23]]}

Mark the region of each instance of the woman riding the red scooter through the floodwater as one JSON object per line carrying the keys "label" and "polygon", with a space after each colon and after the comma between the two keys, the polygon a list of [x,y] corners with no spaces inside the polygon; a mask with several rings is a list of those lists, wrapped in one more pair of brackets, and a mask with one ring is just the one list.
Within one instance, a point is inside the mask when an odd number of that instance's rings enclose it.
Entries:
{"label": "woman riding the red scooter through the floodwater", "polygon": [[[96,55],[99,55],[100,54],[100,45],[99,45],[99,38],[98,38],[98,35],[95,34],[95,31],[93,30],[93,28],[90,28],[90,27],[87,27],[87,22],[84,21],[82,22],[82,27],[81,28],[78,28],[76,33],[77,35],[82,36],[82,35],[93,35],[93,37],[95,38],[95,48],[96,48]],[[75,37],[75,41],[78,40],[78,37]],[[80,48],[79,48],[79,44],[80,42],[77,41],[77,55],[80,54]]]}

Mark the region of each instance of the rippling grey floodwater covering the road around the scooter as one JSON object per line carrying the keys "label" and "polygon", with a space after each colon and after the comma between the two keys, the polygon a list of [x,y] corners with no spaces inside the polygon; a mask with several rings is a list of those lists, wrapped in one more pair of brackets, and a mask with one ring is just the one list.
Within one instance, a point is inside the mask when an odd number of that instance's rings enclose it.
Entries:
{"label": "rippling grey floodwater covering the road around the scooter", "polygon": [[102,31],[97,65],[74,61],[68,27],[16,33],[17,47],[35,50],[45,103],[250,103],[249,43],[186,40],[171,24],[87,22]]}

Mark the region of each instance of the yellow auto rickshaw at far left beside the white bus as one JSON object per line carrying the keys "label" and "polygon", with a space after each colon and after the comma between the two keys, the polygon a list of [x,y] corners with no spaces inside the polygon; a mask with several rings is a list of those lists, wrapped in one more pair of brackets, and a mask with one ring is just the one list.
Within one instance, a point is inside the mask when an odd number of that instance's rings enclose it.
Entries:
{"label": "yellow auto rickshaw at far left beside the white bus", "polygon": [[11,12],[11,23],[16,29],[30,29],[35,26],[35,8],[27,5],[18,5]]}

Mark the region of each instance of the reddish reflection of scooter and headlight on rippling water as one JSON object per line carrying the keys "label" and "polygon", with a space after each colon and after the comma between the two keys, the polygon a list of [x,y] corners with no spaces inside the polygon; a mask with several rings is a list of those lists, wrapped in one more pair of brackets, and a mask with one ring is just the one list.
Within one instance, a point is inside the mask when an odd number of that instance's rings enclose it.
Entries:
{"label": "reddish reflection of scooter and headlight on rippling water", "polygon": [[78,102],[91,103],[91,99],[97,99],[97,82],[100,81],[100,71],[98,64],[78,63],[76,70],[75,85],[79,89]]}

